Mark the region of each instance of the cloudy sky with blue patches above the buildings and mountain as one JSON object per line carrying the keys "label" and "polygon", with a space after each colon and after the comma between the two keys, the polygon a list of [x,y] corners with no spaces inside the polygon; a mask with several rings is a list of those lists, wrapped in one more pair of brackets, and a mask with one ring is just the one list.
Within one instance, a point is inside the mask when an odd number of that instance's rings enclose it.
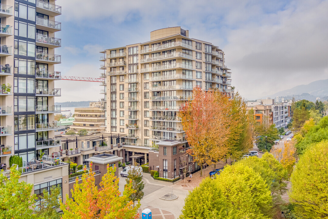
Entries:
{"label": "cloudy sky with blue patches above the buildings and mountain", "polygon": [[[99,77],[99,53],[180,26],[224,51],[232,86],[257,99],[328,78],[328,0],[57,0],[62,76]],[[99,100],[99,82],[60,80],[56,102]],[[327,85],[328,86],[328,85]]]}

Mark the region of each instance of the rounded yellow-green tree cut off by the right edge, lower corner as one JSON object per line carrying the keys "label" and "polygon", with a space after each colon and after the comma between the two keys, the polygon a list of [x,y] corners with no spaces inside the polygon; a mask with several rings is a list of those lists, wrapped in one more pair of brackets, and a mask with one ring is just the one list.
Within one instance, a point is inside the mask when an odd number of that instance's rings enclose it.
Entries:
{"label": "rounded yellow-green tree cut off by the right edge, lower corner", "polygon": [[302,219],[328,218],[328,140],[306,149],[291,176],[290,201]]}

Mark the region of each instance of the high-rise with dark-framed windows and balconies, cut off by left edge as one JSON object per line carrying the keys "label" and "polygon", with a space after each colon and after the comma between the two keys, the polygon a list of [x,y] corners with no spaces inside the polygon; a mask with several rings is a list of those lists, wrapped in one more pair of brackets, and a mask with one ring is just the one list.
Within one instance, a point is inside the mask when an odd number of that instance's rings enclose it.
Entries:
{"label": "high-rise with dark-framed windows and balconies, cut off by left edge", "polygon": [[61,145],[54,138],[59,128],[54,113],[60,113],[54,98],[61,95],[54,85],[60,79],[55,65],[61,63],[61,56],[54,55],[61,46],[61,39],[55,38],[61,23],[55,17],[61,7],[54,0],[0,3],[0,163],[8,167],[11,155],[30,162]]}

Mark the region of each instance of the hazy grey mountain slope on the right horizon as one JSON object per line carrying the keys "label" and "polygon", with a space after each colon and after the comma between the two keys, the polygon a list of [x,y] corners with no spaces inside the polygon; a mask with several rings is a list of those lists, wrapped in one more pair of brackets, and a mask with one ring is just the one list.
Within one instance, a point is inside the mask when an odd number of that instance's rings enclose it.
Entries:
{"label": "hazy grey mountain slope on the right horizon", "polygon": [[324,99],[328,96],[328,79],[313,81],[306,85],[304,84],[298,85],[288,90],[279,91],[273,95],[270,95],[269,97],[276,98],[277,96],[279,97],[297,96],[299,98],[308,97],[309,99],[314,99],[314,100],[317,97],[319,97],[321,99]]}

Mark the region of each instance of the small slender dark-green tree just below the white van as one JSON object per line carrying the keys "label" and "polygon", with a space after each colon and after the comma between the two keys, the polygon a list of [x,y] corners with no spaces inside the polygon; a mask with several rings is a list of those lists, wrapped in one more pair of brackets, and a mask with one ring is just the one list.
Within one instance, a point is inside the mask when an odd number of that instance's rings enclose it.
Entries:
{"label": "small slender dark-green tree just below the white van", "polygon": [[143,198],[144,192],[142,191],[145,187],[145,183],[142,182],[141,172],[138,168],[131,168],[128,171],[128,178],[125,180],[126,183],[132,182],[132,189],[135,190],[134,193],[130,195],[130,200],[133,201],[133,208],[134,202],[138,201]]}

